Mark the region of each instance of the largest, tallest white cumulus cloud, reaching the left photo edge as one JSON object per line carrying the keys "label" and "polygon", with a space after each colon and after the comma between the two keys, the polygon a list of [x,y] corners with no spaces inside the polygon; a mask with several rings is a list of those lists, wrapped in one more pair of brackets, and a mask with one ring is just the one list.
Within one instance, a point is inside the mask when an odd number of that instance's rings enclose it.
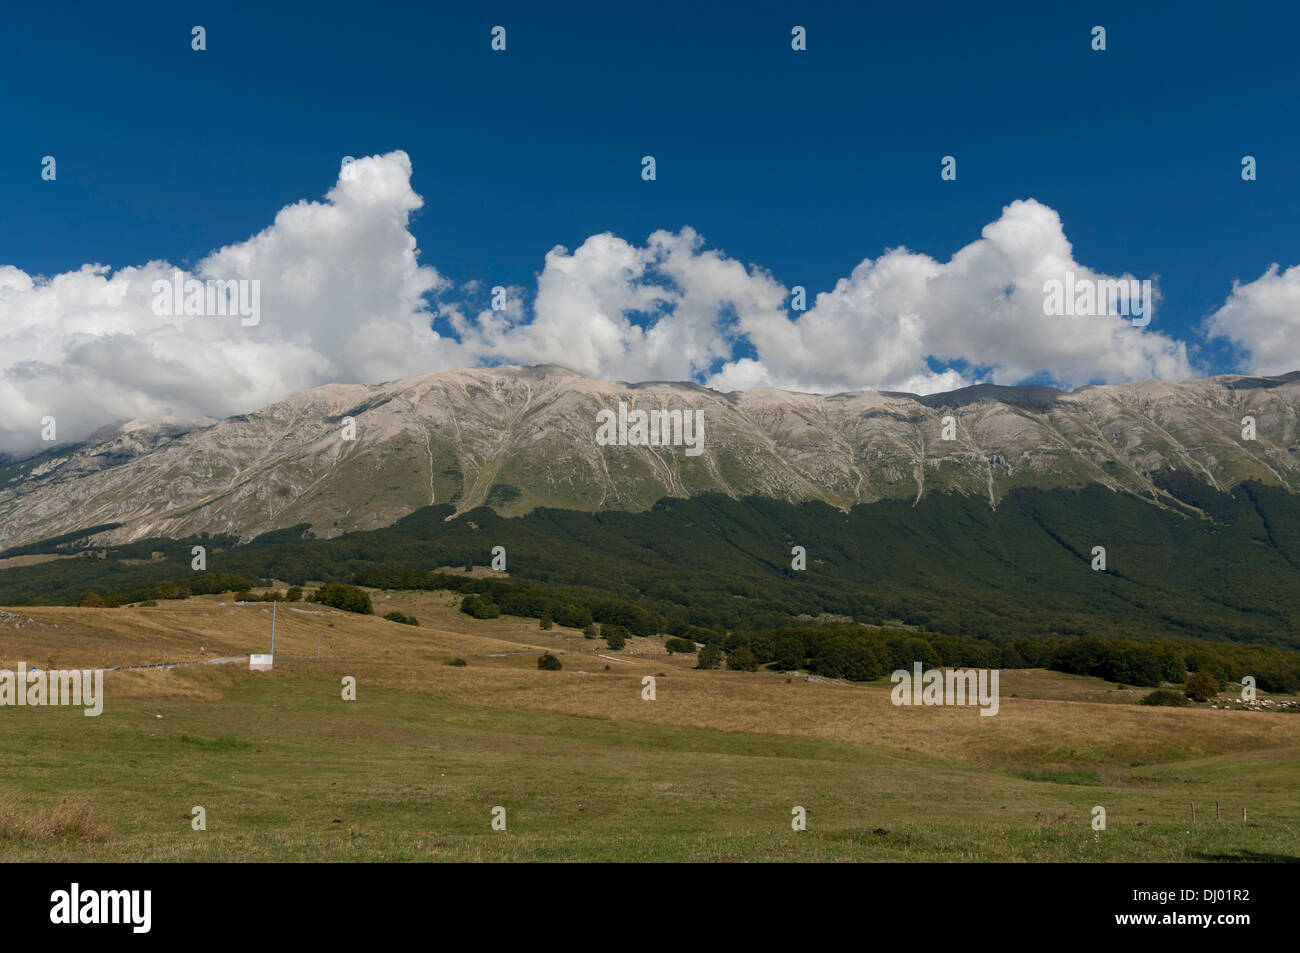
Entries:
{"label": "largest, tallest white cumulus cloud, reaching the left photo edge", "polygon": [[159,313],[153,282],[181,270],[166,261],[52,278],[0,267],[0,450],[32,449],[44,416],[60,441],[79,439],[124,419],[225,416],[332,380],[428,371],[426,295],[446,281],[417,261],[410,179],[403,152],[363,159],[324,202],[182,270],[259,281],[256,326]]}

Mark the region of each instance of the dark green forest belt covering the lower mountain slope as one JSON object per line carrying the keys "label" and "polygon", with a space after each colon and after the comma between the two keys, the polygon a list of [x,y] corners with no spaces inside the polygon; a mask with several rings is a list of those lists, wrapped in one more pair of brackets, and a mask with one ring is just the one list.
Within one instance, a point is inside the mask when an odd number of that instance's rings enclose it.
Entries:
{"label": "dark green forest belt covering the lower mountain slope", "polygon": [[[83,555],[0,571],[0,605],[75,605],[95,592],[112,606],[276,579],[489,592],[508,614],[545,607],[562,624],[590,614],[634,634],[749,638],[757,649],[766,642],[754,633],[829,638],[863,623],[1000,647],[1118,640],[1300,649],[1300,498],[1260,484],[1222,493],[1178,475],[1161,486],[1186,506],[1101,486],[1020,489],[996,510],[957,494],[848,512],[706,494],[636,514],[542,508],[504,519],[477,508],[447,520],[452,507],[433,506],[333,540],[302,525],[243,545],[204,536],[92,551],[86,534],[66,534],[21,551]],[[195,545],[208,550],[207,572],[190,568]],[[488,566],[494,546],[506,547],[508,581],[430,576]],[[807,550],[805,571],[792,568],[793,546]],[[1106,550],[1105,571],[1091,567],[1095,546]],[[848,664],[835,660],[838,645],[828,670]],[[818,658],[809,647],[806,658]],[[1017,651],[1032,662],[1036,650]],[[1124,680],[1122,666],[1115,671]]]}

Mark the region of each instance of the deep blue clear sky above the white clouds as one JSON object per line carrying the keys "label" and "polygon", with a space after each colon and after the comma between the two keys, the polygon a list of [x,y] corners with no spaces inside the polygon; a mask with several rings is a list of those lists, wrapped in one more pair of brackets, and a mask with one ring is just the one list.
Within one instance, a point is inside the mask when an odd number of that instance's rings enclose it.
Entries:
{"label": "deep blue clear sky above the white clouds", "polygon": [[1186,338],[1234,278],[1300,263],[1297,4],[611,7],[10,5],[0,264],[196,261],[394,148],[422,260],[458,282],[690,225],[815,293],[887,247],[946,260],[1032,196],[1079,263],[1158,274],[1153,330]]}

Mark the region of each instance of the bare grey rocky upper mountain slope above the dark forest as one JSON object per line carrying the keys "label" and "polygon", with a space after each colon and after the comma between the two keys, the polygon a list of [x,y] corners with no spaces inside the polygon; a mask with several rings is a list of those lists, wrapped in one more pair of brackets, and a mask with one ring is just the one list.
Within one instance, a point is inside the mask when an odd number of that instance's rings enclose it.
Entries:
{"label": "bare grey rocky upper mountain slope above the dark forest", "polygon": [[[597,415],[699,410],[703,452],[601,446]],[[944,439],[952,416],[953,439]],[[1256,438],[1243,438],[1243,417]],[[1061,391],[978,385],[722,394],[694,384],[615,384],[555,365],[451,371],[329,385],[192,428],[131,423],[0,467],[0,549],[121,524],[105,541],[191,533],[251,538],[309,523],[317,536],[391,524],[429,503],[644,510],[706,490],[848,507],[932,490],[997,506],[1018,486],[1102,484],[1167,497],[1184,471],[1230,489],[1300,490],[1300,372]],[[355,439],[344,439],[344,419]]]}

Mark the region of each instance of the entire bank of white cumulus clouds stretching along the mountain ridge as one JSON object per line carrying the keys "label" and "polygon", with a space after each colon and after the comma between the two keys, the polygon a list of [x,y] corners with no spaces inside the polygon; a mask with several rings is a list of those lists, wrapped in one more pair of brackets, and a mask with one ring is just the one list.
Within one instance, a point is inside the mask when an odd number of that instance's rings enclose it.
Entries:
{"label": "entire bank of white cumulus clouds stretching along the mountain ridge", "polygon": [[[488,282],[458,289],[420,263],[410,224],[421,205],[404,152],[361,159],[324,200],[282,209],[183,274],[259,281],[256,326],[157,313],[153,282],[177,270],[165,261],[52,278],[0,267],[0,450],[34,449],[47,415],[61,441],[79,439],[122,419],[224,416],[330,381],[490,363],[722,390],[1192,376],[1183,343],[1126,317],[1043,313],[1046,280],[1112,276],[1079,265],[1057,213],[1034,200],[1008,205],[948,261],[887,251],[793,313],[790,289],[690,228],[645,244],[599,234],[556,246],[536,287],[507,289],[504,309],[491,309]],[[1283,335],[1270,316],[1295,320],[1297,287],[1300,269],[1275,268],[1238,287],[1214,333],[1269,351]]]}

